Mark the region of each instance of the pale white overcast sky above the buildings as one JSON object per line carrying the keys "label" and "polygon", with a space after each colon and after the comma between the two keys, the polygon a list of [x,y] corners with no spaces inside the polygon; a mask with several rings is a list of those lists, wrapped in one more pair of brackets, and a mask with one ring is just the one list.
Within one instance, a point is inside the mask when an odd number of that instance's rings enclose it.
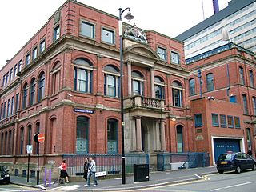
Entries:
{"label": "pale white overcast sky above the buildings", "polygon": [[[13,58],[18,50],[46,24],[64,2],[66,0],[1,1],[0,69],[6,64],[7,59]],[[175,38],[214,14],[212,0],[78,0],[78,2],[117,17],[119,8],[130,7],[130,12],[134,15],[130,24],[136,24],[143,30],[155,30],[170,38]],[[230,0],[218,0],[219,9],[225,8],[228,2]]]}

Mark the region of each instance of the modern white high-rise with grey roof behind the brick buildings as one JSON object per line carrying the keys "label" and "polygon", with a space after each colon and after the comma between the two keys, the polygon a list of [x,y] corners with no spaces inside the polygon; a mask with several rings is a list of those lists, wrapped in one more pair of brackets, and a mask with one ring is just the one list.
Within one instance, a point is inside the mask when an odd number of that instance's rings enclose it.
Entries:
{"label": "modern white high-rise with grey roof behind the brick buildings", "polygon": [[191,58],[223,42],[234,42],[256,53],[256,1],[232,0],[210,18],[191,27],[176,39],[185,43],[185,57]]}

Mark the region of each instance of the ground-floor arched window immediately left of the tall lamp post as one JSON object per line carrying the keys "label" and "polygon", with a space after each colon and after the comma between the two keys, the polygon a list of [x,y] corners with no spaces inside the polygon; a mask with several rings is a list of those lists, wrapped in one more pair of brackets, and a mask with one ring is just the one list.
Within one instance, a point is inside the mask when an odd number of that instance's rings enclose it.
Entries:
{"label": "ground-floor arched window immediately left of the tall lamp post", "polygon": [[107,153],[118,153],[118,120],[107,120]]}

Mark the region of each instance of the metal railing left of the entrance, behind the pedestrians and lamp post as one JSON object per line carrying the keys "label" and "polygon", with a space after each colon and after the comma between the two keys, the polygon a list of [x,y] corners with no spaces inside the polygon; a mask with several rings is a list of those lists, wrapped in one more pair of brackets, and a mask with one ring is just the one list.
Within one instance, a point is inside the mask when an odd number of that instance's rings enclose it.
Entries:
{"label": "metal railing left of the entrance, behind the pedestrians and lamp post", "polygon": [[[106,171],[108,174],[121,174],[122,154],[63,154],[66,159],[67,172],[70,176],[83,174],[85,158],[92,157],[96,162],[97,172]],[[149,163],[149,154],[126,154],[126,173],[134,172],[134,164]]]}

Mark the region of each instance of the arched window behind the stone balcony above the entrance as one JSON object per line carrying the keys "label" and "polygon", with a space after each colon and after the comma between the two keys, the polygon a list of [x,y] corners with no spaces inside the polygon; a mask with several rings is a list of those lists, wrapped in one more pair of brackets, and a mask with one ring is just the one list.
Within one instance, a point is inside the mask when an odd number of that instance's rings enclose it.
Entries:
{"label": "arched window behind the stone balcony above the entrance", "polygon": [[143,75],[138,71],[131,72],[133,94],[144,95],[144,79]]}

